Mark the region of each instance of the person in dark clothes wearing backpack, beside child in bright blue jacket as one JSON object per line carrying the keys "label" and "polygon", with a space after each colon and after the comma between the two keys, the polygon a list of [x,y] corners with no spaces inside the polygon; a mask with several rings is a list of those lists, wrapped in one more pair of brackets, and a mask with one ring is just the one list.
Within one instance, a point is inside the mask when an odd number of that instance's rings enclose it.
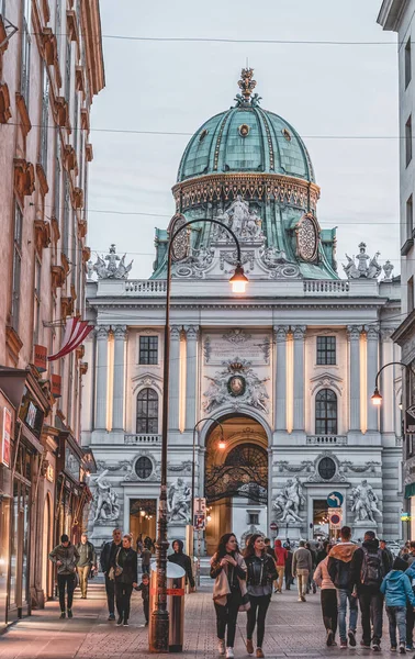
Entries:
{"label": "person in dark clothes wearing backpack, beside child in bright blue jacket", "polygon": [[[383,624],[383,594],[380,590],[383,577],[388,573],[388,557],[379,547],[373,530],[367,530],[362,546],[359,547],[351,561],[350,587],[356,588],[362,626],[362,648],[380,651]],[[373,626],[373,632],[372,627]]]}

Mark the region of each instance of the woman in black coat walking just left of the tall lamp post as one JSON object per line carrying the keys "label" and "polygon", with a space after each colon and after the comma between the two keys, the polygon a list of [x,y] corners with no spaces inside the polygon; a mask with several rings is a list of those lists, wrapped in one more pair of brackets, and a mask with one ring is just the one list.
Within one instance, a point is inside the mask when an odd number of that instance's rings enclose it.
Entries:
{"label": "woman in black coat walking just left of the tall lamp post", "polygon": [[131,536],[123,537],[123,545],[117,550],[114,562],[115,602],[119,619],[116,625],[128,626],[130,601],[133,588],[137,585],[137,552],[131,546]]}

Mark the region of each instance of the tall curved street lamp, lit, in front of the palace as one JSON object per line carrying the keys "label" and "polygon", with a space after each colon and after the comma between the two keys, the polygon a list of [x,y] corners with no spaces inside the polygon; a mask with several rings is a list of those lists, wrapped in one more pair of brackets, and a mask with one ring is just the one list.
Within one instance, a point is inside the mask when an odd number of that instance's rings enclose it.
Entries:
{"label": "tall curved street lamp, lit, in front of the palace", "polygon": [[[181,215],[182,216],[182,215]],[[183,216],[182,216],[183,217]],[[184,220],[184,217],[183,217]],[[242,265],[242,253],[239,242],[228,226],[218,220],[208,217],[201,220],[189,220],[181,224],[172,234],[167,249],[167,277],[166,277],[166,314],[164,331],[164,370],[162,370],[162,412],[161,412],[161,473],[160,473],[160,498],[158,506],[157,543],[156,543],[156,570],[157,585],[155,596],[155,608],[152,613],[152,626],[149,638],[150,652],[169,651],[169,613],[167,611],[167,431],[169,411],[169,375],[170,375],[170,288],[171,288],[171,249],[178,234],[191,224],[209,222],[217,224],[226,231],[236,245],[236,268],[231,278],[233,292],[243,293],[247,283]],[[172,227],[175,230],[175,225]]]}

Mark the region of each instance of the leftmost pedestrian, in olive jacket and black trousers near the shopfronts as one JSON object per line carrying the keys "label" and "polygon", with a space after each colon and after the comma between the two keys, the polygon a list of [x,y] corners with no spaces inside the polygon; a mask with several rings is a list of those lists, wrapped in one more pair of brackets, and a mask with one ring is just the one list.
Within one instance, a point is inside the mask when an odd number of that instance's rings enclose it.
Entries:
{"label": "leftmost pedestrian, in olive jacket and black trousers near the shopfronts", "polygon": [[[60,617],[74,617],[72,601],[76,587],[76,566],[79,560],[79,554],[75,545],[69,541],[69,537],[64,533],[60,536],[60,545],[57,545],[49,554],[49,559],[57,567],[57,581],[59,592]],[[65,603],[65,589],[67,602]]]}

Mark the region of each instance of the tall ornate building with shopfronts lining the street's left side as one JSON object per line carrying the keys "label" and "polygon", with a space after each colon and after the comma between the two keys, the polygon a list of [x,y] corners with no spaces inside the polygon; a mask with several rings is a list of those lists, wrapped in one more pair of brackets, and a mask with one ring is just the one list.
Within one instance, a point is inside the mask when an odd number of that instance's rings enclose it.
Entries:
{"label": "tall ornate building with shopfronts lining the street's left side", "polygon": [[79,445],[89,114],[104,86],[98,0],[0,2],[0,624],[54,594],[47,554],[91,495]]}

